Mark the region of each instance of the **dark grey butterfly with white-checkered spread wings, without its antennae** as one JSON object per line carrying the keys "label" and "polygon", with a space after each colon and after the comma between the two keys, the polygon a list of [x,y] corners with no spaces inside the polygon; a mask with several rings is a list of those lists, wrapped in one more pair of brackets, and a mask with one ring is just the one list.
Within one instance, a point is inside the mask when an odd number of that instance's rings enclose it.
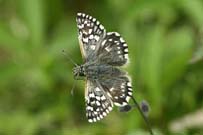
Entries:
{"label": "dark grey butterfly with white-checkered spread wings, without its antennae", "polygon": [[76,79],[84,79],[86,116],[89,122],[103,119],[114,106],[128,105],[131,79],[120,67],[126,65],[128,45],[117,32],[107,32],[94,17],[77,13],[78,39],[84,64],[73,68]]}

